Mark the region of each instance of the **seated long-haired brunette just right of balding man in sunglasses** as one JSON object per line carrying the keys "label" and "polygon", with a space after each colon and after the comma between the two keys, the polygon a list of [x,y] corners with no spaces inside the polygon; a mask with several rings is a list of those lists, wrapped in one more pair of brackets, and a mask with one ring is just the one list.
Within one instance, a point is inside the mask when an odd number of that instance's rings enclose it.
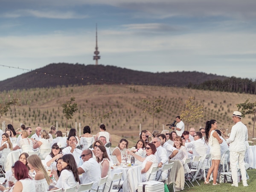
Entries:
{"label": "seated long-haired brunette just right of balding man in sunglasses", "polygon": [[107,183],[104,189],[104,192],[108,192],[111,184],[111,166],[109,163],[110,160],[108,158],[108,153],[105,146],[97,146],[96,157],[101,169],[101,177],[103,178],[108,175]]}

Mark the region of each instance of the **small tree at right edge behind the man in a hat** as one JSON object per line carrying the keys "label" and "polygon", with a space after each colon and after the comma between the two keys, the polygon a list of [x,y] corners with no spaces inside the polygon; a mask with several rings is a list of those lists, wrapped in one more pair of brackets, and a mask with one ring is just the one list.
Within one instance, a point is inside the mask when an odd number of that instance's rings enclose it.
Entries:
{"label": "small tree at right edge behind the man in a hat", "polygon": [[256,102],[250,103],[248,102],[249,99],[247,99],[244,103],[236,104],[238,107],[238,110],[242,113],[242,117],[244,117],[247,114],[253,114],[253,138],[254,138],[254,125],[255,125],[255,115],[256,115]]}

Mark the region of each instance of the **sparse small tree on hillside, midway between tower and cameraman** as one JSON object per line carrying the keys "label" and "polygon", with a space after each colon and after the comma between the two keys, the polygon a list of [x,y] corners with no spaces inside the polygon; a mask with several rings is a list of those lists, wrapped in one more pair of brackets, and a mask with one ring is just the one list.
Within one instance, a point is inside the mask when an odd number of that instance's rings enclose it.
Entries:
{"label": "sparse small tree on hillside, midway between tower and cameraman", "polygon": [[155,113],[160,113],[161,111],[163,111],[162,105],[160,105],[162,101],[163,101],[162,99],[155,99],[153,102],[151,102],[147,99],[141,100],[141,102],[147,104],[147,107],[143,110],[143,113],[148,113],[151,117],[153,117],[152,131],[154,131]]}

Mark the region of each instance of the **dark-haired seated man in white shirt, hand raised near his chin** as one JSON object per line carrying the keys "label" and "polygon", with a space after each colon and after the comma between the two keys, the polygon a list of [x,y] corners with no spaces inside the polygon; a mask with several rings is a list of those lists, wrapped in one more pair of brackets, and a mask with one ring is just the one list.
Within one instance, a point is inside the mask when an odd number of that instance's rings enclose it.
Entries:
{"label": "dark-haired seated man in white shirt, hand raised near his chin", "polygon": [[76,160],[76,166],[78,167],[82,151],[80,149],[76,148],[76,143],[77,143],[76,137],[74,137],[74,136],[70,137],[70,139],[68,141],[69,146],[64,148],[62,150],[62,153],[63,154],[72,154]]}

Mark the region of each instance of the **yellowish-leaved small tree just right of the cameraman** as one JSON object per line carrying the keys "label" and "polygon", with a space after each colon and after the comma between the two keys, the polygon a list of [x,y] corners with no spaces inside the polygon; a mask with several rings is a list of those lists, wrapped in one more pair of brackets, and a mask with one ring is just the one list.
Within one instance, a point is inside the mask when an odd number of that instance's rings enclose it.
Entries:
{"label": "yellowish-leaved small tree just right of the cameraman", "polygon": [[180,111],[180,117],[184,120],[187,130],[189,129],[189,124],[195,122],[197,119],[203,117],[203,108],[204,105],[195,105],[192,103],[192,100],[195,100],[195,97],[189,97],[186,100],[186,105],[181,102],[183,106],[185,106],[185,110]]}

